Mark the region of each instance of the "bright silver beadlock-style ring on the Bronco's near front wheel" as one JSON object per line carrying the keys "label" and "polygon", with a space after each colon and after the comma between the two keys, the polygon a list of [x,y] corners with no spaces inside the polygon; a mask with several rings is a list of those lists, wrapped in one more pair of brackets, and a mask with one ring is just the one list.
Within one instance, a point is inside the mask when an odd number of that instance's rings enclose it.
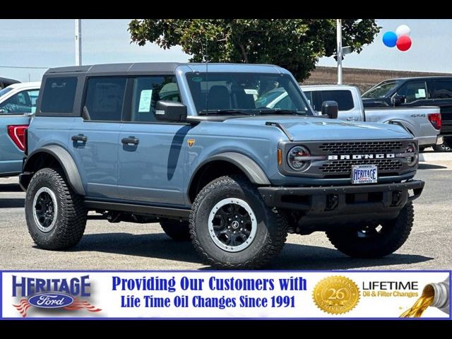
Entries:
{"label": "bright silver beadlock-style ring on the Bronco's near front wheel", "polygon": [[[223,206],[227,205],[238,205],[244,210],[246,210],[246,213],[248,213],[249,218],[251,220],[251,231],[249,234],[249,237],[245,240],[244,243],[240,244],[239,246],[230,246],[222,242],[220,239],[218,239],[217,235],[215,234],[213,220],[215,218],[215,215],[217,214],[218,210],[222,208]],[[234,227],[236,226],[236,227]],[[232,228],[237,229],[237,225],[234,224],[234,221],[232,221]],[[208,217],[208,231],[210,235],[210,239],[212,239],[213,243],[218,246],[223,251],[227,252],[239,252],[243,251],[244,249],[248,248],[251,243],[254,241],[256,237],[257,232],[257,220],[256,215],[254,214],[254,211],[251,209],[248,203],[246,201],[239,199],[239,198],[225,198],[222,201],[218,202],[213,208],[210,210],[209,217]]]}

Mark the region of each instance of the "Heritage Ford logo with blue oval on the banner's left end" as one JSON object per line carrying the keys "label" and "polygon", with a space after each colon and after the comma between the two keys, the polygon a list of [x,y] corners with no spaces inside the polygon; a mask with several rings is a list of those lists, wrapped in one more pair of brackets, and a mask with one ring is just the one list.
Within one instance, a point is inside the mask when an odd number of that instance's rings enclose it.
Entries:
{"label": "Heritage Ford logo with blue oval on the banner's left end", "polygon": [[23,317],[27,316],[30,307],[66,311],[78,309],[90,312],[102,311],[88,301],[78,299],[78,297],[90,297],[89,278],[89,275],[71,279],[25,278],[13,275],[13,297],[25,297],[20,299],[18,304],[13,304],[13,307],[16,307]]}

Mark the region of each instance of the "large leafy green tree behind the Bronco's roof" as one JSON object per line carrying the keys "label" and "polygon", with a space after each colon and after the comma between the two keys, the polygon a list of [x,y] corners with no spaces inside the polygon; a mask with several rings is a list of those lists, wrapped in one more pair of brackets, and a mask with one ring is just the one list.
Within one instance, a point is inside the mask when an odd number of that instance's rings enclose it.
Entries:
{"label": "large leafy green tree behind the Bronco's roof", "polygon": [[[372,19],[342,23],[343,46],[358,53],[381,29]],[[298,81],[309,76],[320,57],[336,54],[335,19],[134,19],[129,32],[140,46],[180,45],[190,61],[276,64]]]}

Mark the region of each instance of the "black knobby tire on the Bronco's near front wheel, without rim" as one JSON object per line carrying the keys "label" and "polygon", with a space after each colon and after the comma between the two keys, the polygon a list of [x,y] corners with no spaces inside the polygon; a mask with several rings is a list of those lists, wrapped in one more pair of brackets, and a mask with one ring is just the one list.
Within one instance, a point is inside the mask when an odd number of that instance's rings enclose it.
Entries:
{"label": "black knobby tire on the Bronco's near front wheel, without rim", "polygon": [[[239,198],[256,216],[254,240],[242,251],[228,252],[213,242],[208,230],[208,216],[225,198]],[[220,177],[207,184],[196,196],[190,214],[190,234],[196,251],[203,259],[222,269],[249,269],[266,265],[283,249],[288,223],[285,215],[268,208],[256,187],[240,175]]]}

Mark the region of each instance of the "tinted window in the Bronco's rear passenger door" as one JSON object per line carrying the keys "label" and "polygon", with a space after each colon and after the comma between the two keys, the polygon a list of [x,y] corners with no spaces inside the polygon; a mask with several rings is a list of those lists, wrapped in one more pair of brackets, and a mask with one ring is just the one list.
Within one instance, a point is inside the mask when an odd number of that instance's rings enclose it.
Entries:
{"label": "tinted window in the Bronco's rear passenger door", "polygon": [[125,77],[89,78],[84,109],[90,120],[121,121],[125,89]]}

